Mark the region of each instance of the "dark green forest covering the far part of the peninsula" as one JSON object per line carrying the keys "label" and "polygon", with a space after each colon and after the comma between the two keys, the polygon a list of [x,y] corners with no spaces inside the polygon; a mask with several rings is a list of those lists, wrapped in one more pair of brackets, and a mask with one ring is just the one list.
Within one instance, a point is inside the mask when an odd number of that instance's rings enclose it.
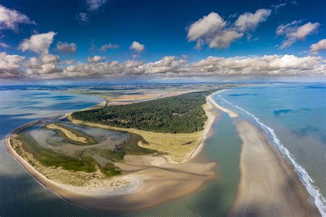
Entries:
{"label": "dark green forest covering the far part of the peninsula", "polygon": [[156,133],[193,133],[202,130],[207,117],[202,105],[217,91],[199,91],[134,104],[77,111],[74,119]]}

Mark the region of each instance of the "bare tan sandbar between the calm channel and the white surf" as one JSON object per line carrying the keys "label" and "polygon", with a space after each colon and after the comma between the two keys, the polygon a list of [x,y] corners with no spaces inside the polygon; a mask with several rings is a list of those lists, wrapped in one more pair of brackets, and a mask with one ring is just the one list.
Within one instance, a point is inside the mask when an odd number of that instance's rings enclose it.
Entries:
{"label": "bare tan sandbar between the calm channel and the white surf", "polygon": [[237,122],[241,179],[230,216],[320,216],[293,167],[249,122]]}

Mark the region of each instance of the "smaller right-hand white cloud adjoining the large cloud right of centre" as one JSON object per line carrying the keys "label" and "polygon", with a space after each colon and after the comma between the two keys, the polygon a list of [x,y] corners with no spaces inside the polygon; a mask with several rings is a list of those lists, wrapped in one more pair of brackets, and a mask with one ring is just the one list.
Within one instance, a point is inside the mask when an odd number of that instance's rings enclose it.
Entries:
{"label": "smaller right-hand white cloud adjoining the large cloud right of centre", "polygon": [[259,9],[254,14],[246,12],[241,14],[237,21],[235,21],[235,27],[241,32],[248,30],[255,30],[259,23],[266,21],[272,10],[270,9]]}

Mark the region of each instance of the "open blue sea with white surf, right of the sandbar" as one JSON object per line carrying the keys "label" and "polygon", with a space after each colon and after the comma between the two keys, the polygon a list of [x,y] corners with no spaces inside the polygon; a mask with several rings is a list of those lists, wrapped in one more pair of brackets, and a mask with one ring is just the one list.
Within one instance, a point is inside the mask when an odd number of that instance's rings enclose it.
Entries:
{"label": "open blue sea with white surf, right of the sandbar", "polygon": [[293,163],[326,214],[326,84],[273,84],[224,91],[219,103],[265,131]]}

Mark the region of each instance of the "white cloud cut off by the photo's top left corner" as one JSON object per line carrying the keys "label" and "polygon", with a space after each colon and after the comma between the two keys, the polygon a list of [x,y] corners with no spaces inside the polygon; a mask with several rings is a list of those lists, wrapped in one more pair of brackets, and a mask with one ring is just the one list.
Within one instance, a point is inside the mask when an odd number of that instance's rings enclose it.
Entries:
{"label": "white cloud cut off by the photo's top left corner", "polygon": [[9,29],[14,32],[18,31],[19,24],[36,24],[28,16],[0,5],[0,29]]}

